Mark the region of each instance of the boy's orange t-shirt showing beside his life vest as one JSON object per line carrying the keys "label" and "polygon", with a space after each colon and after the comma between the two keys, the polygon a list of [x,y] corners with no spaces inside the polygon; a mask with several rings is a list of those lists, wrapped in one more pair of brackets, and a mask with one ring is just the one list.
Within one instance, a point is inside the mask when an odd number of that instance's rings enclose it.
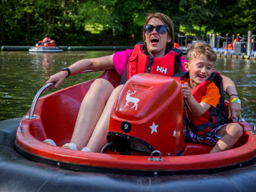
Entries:
{"label": "boy's orange t-shirt showing beside his life vest", "polygon": [[[189,83],[188,78],[184,78],[182,81],[180,81],[180,84]],[[193,89],[190,89],[191,92]],[[216,108],[216,105],[220,103],[220,91],[216,84],[214,84],[212,81],[207,85],[206,94],[201,98],[200,102],[205,102],[209,104],[212,108]]]}

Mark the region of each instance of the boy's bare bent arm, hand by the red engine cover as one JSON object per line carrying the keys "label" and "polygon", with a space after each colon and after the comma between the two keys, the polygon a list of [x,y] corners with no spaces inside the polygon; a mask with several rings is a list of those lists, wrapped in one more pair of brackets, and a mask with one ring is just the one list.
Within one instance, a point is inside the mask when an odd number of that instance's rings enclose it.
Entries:
{"label": "boy's bare bent arm, hand by the red engine cover", "polygon": [[188,83],[185,83],[182,85],[182,90],[183,90],[183,97],[184,99],[186,99],[188,107],[190,111],[193,113],[193,115],[195,116],[204,115],[204,113],[211,108],[211,105],[205,102],[198,103],[195,100],[193,95],[191,95],[190,87],[188,86]]}

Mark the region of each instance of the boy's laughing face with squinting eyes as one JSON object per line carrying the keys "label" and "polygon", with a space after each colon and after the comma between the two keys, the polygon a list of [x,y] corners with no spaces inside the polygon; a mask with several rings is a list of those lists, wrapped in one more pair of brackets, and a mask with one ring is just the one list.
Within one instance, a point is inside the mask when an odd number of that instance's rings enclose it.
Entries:
{"label": "boy's laughing face with squinting eyes", "polygon": [[194,58],[188,63],[184,63],[184,67],[189,72],[189,86],[195,88],[198,84],[209,79],[212,72],[215,71],[213,68],[214,61],[209,61],[204,55],[199,58]]}

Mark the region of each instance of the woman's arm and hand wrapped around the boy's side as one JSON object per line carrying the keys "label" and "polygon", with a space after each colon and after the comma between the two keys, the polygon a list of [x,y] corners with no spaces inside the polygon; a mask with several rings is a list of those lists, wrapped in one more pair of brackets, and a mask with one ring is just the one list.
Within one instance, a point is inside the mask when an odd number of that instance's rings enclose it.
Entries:
{"label": "woman's arm and hand wrapped around the boy's side", "polygon": [[[237,95],[237,91],[236,91],[236,86],[234,84],[234,82],[229,79],[226,76],[222,76],[223,78],[223,88],[225,90],[225,92],[227,92],[228,96],[230,96],[230,99],[232,98],[238,98]],[[241,104],[238,104],[237,102],[231,102],[228,106],[228,118],[236,118],[237,116],[239,116],[241,114]]]}

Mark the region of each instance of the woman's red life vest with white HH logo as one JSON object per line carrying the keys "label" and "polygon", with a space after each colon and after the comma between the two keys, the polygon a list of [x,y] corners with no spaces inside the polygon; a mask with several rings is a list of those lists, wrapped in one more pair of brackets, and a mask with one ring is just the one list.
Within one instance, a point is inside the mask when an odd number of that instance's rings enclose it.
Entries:
{"label": "woman's red life vest with white HH logo", "polygon": [[173,77],[175,56],[181,56],[182,51],[175,48],[161,58],[154,58],[152,56],[145,55],[142,49],[143,44],[137,44],[134,46],[134,50],[129,58],[124,75],[122,76],[121,84],[124,84],[135,74],[141,73]]}

